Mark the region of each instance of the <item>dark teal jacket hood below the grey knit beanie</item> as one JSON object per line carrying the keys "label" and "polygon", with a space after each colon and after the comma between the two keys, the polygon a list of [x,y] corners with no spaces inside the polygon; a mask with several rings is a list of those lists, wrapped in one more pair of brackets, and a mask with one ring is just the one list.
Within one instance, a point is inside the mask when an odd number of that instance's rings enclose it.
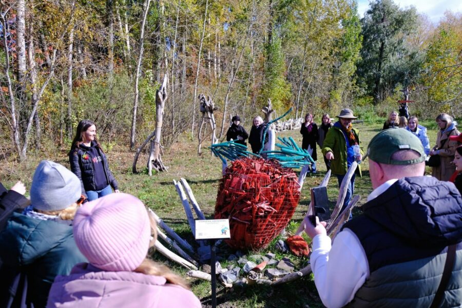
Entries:
{"label": "dark teal jacket hood below the grey knit beanie", "polygon": [[27,265],[72,236],[67,224],[13,213],[0,233],[0,259],[10,266]]}

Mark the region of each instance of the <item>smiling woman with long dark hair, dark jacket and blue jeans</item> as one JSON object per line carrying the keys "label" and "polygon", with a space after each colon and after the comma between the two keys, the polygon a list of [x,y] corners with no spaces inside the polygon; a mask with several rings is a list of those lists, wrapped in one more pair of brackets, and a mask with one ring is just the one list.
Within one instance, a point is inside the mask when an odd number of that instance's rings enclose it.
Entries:
{"label": "smiling woman with long dark hair, dark jacket and blue jeans", "polygon": [[90,120],[82,120],[77,125],[69,162],[72,172],[82,184],[82,195],[88,201],[111,194],[111,187],[119,192],[119,185],[96,138],[96,126]]}

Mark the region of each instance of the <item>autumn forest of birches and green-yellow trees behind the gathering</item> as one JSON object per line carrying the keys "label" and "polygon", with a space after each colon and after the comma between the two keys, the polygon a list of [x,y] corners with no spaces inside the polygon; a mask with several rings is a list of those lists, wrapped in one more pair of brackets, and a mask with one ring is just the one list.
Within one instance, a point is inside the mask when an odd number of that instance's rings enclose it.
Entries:
{"label": "autumn forest of birches and green-yellow trees behind the gathering", "polygon": [[198,95],[218,110],[217,135],[271,99],[287,117],[350,107],[382,122],[411,90],[411,114],[462,113],[462,17],[437,25],[414,7],[352,0],[2,0],[0,159],[69,148],[81,119],[110,149],[134,151],[155,128],[168,76],[162,145],[200,124]]}

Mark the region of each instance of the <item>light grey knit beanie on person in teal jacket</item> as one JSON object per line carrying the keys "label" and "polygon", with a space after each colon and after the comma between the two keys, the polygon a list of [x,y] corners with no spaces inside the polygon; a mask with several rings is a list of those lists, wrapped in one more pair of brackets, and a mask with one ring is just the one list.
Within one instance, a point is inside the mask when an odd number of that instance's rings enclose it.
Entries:
{"label": "light grey knit beanie on person in teal jacket", "polygon": [[62,210],[81,195],[79,178],[66,167],[47,160],[38,164],[30,186],[30,201],[35,209]]}

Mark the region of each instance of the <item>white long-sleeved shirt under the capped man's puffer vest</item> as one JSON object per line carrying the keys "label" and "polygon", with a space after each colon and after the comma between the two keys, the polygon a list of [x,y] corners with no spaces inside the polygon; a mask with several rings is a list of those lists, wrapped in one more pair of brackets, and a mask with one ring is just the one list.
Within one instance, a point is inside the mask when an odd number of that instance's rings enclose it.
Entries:
{"label": "white long-sleeved shirt under the capped man's puffer vest", "polygon": [[[389,180],[374,189],[368,201],[382,194],[396,181]],[[348,228],[338,233],[333,245],[330,237],[315,236],[310,261],[319,296],[328,308],[349,303],[370,274],[364,248]]]}

